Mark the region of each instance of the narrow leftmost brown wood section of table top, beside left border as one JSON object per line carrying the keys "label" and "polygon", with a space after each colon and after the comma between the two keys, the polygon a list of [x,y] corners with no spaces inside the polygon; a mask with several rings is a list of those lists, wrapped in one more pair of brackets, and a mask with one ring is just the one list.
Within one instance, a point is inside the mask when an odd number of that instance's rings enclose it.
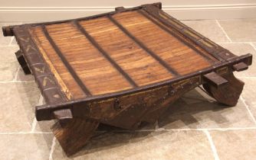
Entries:
{"label": "narrow leftmost brown wood section of table top, beside left border", "polygon": [[[64,66],[61,58],[57,55],[54,48],[51,46],[47,38],[45,37],[42,27],[31,27],[31,37],[38,46],[38,50],[41,56],[44,57],[45,62],[48,64],[54,77],[57,79],[58,85],[68,99],[84,98],[86,94],[79,87],[77,82],[72,77],[71,73],[68,72],[67,67]],[[41,73],[45,72],[44,68],[36,67],[36,70]]]}

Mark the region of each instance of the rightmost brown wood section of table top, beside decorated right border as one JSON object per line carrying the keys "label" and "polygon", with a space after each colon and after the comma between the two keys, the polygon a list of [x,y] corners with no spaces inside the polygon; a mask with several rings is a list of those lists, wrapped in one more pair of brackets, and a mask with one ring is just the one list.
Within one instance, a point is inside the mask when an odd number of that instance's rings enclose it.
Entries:
{"label": "rightmost brown wood section of table top, beside decorated right border", "polygon": [[162,30],[159,25],[149,21],[138,11],[122,12],[114,14],[112,17],[172,69],[179,72],[179,75],[196,72],[213,64],[212,61],[208,61],[196,53],[191,47],[182,43],[182,40],[172,36],[166,30]]}

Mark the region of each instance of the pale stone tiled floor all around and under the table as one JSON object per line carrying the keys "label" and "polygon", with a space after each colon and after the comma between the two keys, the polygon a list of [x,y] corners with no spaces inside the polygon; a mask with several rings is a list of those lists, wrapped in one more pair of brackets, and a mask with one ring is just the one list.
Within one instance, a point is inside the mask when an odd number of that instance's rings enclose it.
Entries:
{"label": "pale stone tiled floor all around and under the table", "polygon": [[[153,125],[135,132],[103,127],[71,159],[256,159],[256,19],[183,22],[237,55],[254,55],[248,71],[235,73],[245,82],[237,106],[217,104],[196,88]],[[10,24],[21,23],[0,27]],[[35,120],[34,106],[44,100],[18,66],[14,37],[0,34],[0,159],[69,159],[51,133],[53,122]]]}

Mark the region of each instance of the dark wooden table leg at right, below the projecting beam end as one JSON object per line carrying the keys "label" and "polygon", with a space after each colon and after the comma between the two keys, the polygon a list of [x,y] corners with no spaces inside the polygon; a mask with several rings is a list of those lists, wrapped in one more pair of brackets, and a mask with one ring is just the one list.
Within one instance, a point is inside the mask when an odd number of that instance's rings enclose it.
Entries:
{"label": "dark wooden table leg at right, below the projecting beam end", "polygon": [[235,106],[235,104],[238,103],[238,98],[240,97],[245,83],[235,78],[233,73],[222,75],[222,77],[228,80],[227,85],[216,88],[215,86],[206,83],[203,85],[203,87],[208,92],[208,94],[210,94],[218,102],[228,106]]}

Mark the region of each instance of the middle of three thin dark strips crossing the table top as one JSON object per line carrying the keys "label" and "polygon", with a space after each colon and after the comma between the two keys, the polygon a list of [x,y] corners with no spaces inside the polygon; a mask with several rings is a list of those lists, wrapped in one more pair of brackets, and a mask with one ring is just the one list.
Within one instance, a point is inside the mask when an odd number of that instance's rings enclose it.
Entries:
{"label": "middle of three thin dark strips crossing the table top", "polygon": [[94,40],[93,37],[90,36],[90,34],[87,33],[87,31],[84,29],[84,27],[82,27],[78,21],[73,21],[75,26],[77,27],[78,30],[80,30],[81,33],[84,34],[85,37],[87,37],[88,40],[90,40],[90,43],[92,43],[97,50],[100,51],[100,53],[103,54],[103,56],[110,61],[110,63],[123,75],[123,77],[125,77],[128,82],[130,82],[131,85],[133,85],[133,87],[138,87],[138,85],[136,85],[136,82],[133,81],[132,78],[130,78],[130,76],[123,71],[123,69],[117,64],[117,62],[115,62],[109,55],[108,53],[103,50],[100,45]]}

